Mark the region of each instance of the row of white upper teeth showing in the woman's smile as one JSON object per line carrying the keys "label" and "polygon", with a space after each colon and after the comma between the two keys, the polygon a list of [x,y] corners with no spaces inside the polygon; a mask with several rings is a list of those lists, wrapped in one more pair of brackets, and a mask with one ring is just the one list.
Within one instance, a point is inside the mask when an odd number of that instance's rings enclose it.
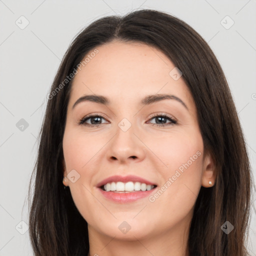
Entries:
{"label": "row of white upper teeth showing in the woman's smile", "polygon": [[126,183],[124,182],[111,182],[111,183],[106,183],[104,184],[104,190],[105,191],[146,191],[146,190],[151,190],[154,188],[154,185],[148,185],[145,183],[140,183],[140,182],[132,182],[128,181]]}

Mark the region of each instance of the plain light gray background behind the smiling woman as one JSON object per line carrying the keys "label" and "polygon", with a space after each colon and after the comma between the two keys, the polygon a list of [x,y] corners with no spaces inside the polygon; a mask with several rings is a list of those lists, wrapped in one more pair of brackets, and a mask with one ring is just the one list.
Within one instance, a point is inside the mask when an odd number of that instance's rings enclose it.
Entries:
{"label": "plain light gray background behind the smiling woman", "polygon": [[[25,200],[46,94],[65,50],[91,21],[136,8],[167,11],[208,42],[228,80],[255,179],[256,0],[0,0],[0,256],[32,255]],[[234,21],[228,29],[232,21],[226,15]],[[253,212],[251,255],[256,255],[255,226]]]}

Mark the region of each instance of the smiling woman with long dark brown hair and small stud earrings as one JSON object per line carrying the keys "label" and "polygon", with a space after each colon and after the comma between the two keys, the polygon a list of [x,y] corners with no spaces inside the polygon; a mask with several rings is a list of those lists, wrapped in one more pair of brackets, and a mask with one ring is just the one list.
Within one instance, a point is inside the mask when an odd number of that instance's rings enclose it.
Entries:
{"label": "smiling woman with long dark brown hair and small stud earrings", "polygon": [[77,35],[34,171],[35,255],[247,255],[234,102],[207,43],[167,13],[107,16]]}

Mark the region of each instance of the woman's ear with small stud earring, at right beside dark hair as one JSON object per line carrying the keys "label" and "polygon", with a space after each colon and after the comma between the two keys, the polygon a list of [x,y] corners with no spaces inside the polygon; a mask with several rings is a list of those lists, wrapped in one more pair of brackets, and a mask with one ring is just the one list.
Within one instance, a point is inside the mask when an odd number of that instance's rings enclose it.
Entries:
{"label": "woman's ear with small stud earring, at right beside dark hair", "polygon": [[[202,186],[211,187],[215,183],[216,178],[216,168],[215,163],[211,157],[211,154],[208,152],[204,156],[203,160],[203,169],[202,169]],[[209,183],[211,181],[211,184]]]}

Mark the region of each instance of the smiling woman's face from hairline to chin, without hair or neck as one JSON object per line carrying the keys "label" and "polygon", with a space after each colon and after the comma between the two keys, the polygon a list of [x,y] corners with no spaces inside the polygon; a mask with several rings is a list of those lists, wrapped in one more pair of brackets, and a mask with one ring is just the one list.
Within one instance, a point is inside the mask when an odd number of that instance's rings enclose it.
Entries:
{"label": "smiling woman's face from hairline to chin, without hair or neck", "polygon": [[184,230],[212,173],[182,75],[142,43],[96,48],[77,69],[67,107],[64,175],[74,203],[91,233],[132,240]]}

